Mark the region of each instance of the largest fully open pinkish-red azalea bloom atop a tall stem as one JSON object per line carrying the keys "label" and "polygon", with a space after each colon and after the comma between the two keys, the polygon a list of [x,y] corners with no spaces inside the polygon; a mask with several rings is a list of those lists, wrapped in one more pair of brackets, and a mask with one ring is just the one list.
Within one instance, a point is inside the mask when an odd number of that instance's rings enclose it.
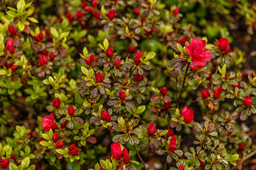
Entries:
{"label": "largest fully open pinkish-red azalea bloom atop a tall stem", "polygon": [[203,68],[206,61],[212,59],[212,56],[210,55],[211,50],[204,50],[205,46],[205,40],[196,38],[193,38],[189,46],[186,46],[186,51],[191,56],[193,64],[198,68]]}

